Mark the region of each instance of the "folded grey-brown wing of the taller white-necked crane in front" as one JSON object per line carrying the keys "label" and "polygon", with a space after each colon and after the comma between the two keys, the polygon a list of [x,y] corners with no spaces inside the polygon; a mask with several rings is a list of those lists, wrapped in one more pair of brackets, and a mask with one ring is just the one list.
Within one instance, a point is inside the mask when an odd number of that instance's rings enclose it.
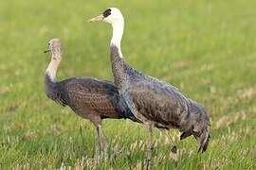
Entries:
{"label": "folded grey-brown wing of the taller white-necked crane in front", "polygon": [[164,82],[137,81],[127,93],[137,111],[153,122],[179,127],[181,116],[188,114],[189,100]]}

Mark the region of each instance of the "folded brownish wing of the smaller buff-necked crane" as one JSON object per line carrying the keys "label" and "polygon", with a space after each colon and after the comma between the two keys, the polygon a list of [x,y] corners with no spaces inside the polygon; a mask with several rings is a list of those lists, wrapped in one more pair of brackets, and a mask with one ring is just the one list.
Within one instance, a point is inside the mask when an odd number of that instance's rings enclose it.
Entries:
{"label": "folded brownish wing of the smaller buff-necked crane", "polygon": [[76,110],[98,110],[109,115],[116,113],[119,102],[117,88],[108,81],[94,78],[71,78],[60,82],[62,98]]}

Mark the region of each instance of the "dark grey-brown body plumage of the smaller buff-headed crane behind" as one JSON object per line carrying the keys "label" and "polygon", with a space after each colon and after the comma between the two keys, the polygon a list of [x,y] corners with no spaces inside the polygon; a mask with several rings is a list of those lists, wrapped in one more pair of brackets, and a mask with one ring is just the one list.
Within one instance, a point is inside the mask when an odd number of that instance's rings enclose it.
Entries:
{"label": "dark grey-brown body plumage of the smaller buff-headed crane behind", "polygon": [[72,77],[54,82],[45,78],[46,95],[62,106],[69,106],[83,118],[96,112],[104,118],[128,118],[137,121],[114,83],[91,77]]}

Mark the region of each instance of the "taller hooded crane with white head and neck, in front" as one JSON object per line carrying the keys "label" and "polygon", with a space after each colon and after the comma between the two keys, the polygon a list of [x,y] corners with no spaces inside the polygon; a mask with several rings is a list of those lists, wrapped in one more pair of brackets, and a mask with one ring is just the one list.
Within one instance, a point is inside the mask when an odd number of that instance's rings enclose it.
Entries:
{"label": "taller hooded crane with white head and neck, in front", "polygon": [[180,139],[193,135],[199,144],[198,151],[205,151],[210,138],[210,120],[206,110],[180,93],[174,86],[147,76],[132,68],[121,53],[124,19],[119,8],[107,8],[101,15],[88,22],[102,21],[113,28],[110,57],[115,84],[129,109],[138,120],[147,125],[150,133],[147,161],[152,157],[152,128],[178,128]]}

